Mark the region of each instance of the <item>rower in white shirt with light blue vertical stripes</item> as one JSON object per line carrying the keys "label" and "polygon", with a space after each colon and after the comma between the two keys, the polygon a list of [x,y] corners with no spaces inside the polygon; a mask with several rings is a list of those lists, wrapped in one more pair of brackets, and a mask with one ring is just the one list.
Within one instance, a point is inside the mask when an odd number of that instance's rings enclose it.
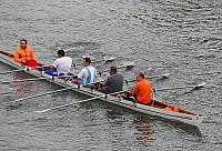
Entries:
{"label": "rower in white shirt with light blue vertical stripes", "polygon": [[95,82],[97,70],[94,67],[90,66],[90,63],[91,63],[90,58],[84,58],[83,60],[84,68],[80,71],[77,79],[72,80],[72,83],[90,85]]}

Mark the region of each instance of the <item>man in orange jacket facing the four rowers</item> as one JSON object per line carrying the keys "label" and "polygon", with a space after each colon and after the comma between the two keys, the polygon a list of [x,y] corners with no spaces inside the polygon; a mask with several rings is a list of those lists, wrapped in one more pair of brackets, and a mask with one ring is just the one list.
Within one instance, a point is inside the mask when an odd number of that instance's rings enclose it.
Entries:
{"label": "man in orange jacket facing the four rowers", "polygon": [[20,40],[20,47],[16,49],[13,59],[22,66],[37,67],[36,56],[32,49],[27,46],[26,39]]}

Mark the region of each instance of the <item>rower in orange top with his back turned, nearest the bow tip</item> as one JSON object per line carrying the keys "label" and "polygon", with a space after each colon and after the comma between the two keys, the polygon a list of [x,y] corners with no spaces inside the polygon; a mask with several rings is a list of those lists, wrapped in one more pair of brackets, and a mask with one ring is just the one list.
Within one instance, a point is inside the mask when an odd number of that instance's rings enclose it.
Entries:
{"label": "rower in orange top with his back turned, nearest the bow tip", "polygon": [[151,82],[144,78],[143,73],[137,77],[137,83],[132,90],[131,95],[141,103],[151,104],[152,102],[152,88]]}

